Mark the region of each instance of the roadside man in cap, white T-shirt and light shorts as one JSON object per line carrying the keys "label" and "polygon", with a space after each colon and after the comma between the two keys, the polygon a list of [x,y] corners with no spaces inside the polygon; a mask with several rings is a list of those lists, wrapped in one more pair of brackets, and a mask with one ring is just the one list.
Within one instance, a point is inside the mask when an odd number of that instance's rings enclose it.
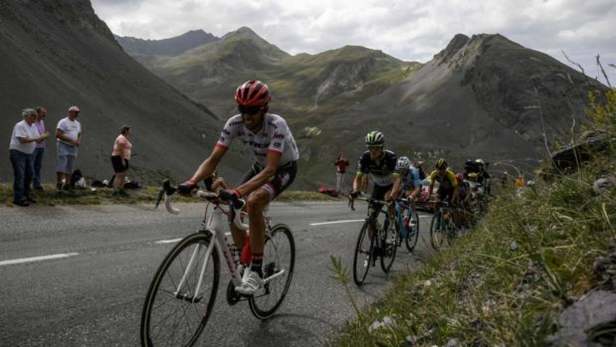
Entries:
{"label": "roadside man in cap, white T-shirt and light shorts", "polygon": [[[57,188],[58,190],[70,189],[71,173],[77,158],[78,147],[81,144],[81,124],[77,121],[79,116],[79,107],[70,106],[68,108],[68,117],[62,118],[55,127],[55,137],[57,138],[57,158],[58,166],[55,170],[57,173]],[[62,182],[64,181],[64,182]],[[64,183],[65,186],[62,186]]]}

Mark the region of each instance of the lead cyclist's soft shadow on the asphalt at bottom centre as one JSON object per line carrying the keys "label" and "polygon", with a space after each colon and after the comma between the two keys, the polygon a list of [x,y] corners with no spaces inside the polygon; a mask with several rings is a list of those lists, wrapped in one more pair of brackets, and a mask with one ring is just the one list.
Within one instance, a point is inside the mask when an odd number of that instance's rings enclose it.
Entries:
{"label": "lead cyclist's soft shadow on the asphalt at bottom centre", "polygon": [[326,325],[332,332],[338,327],[331,322],[305,314],[276,314],[246,334],[246,346],[298,346],[323,345],[323,334],[317,334],[315,325]]}

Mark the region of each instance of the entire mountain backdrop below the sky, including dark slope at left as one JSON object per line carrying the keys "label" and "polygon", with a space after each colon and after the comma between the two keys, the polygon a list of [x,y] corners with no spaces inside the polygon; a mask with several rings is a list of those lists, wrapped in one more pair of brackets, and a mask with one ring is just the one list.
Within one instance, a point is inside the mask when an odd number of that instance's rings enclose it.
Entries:
{"label": "entire mountain backdrop below the sky, including dark slope at left", "polygon": [[[132,174],[185,178],[207,156],[223,121],[236,113],[233,91],[247,79],[272,88],[270,111],[290,124],[301,151],[295,188],[333,183],[339,151],[357,158],[369,130],[387,148],[431,160],[540,159],[546,140],[586,121],[593,79],[499,34],[456,35],[426,63],[344,46],[286,53],[250,28],[217,38],[203,30],[177,38],[114,36],[87,0],[0,2],[0,130],[8,139],[20,110],[44,105],[47,129],[70,105],[82,112],[77,167],[108,178],[123,124],[133,130]],[[8,141],[8,140],[7,140]],[[54,180],[55,142],[43,173]],[[251,161],[240,143],[222,173],[234,182]],[[428,164],[430,166],[430,164]],[[10,164],[0,180],[12,178]]]}

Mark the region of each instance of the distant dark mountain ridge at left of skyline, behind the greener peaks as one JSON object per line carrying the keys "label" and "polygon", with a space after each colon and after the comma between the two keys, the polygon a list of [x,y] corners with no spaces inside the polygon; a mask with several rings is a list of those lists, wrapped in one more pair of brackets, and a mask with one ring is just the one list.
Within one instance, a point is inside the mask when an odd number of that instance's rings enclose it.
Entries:
{"label": "distant dark mountain ridge at left of skyline, behind the greener peaks", "polygon": [[217,41],[213,34],[203,30],[191,30],[174,38],[144,40],[131,36],[114,35],[116,41],[132,56],[139,55],[177,55],[209,42]]}

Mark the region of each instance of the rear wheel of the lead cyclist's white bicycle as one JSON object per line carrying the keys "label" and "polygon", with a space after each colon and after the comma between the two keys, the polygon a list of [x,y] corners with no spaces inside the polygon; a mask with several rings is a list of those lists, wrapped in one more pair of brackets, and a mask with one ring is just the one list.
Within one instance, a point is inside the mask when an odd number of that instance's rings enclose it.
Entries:
{"label": "rear wheel of the lead cyclist's white bicycle", "polygon": [[265,238],[263,277],[284,272],[264,285],[264,295],[249,298],[248,305],[255,317],[268,319],[282,304],[293,278],[294,265],[295,242],[291,229],[284,224],[277,224]]}

